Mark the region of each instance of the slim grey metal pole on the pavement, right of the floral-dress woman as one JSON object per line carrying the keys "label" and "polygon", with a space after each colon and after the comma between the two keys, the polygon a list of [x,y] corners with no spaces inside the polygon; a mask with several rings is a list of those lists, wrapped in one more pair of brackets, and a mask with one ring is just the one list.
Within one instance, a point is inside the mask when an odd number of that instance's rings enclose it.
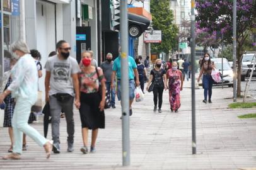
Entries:
{"label": "slim grey metal pole on the pavement, right of the floral-dress woman", "polygon": [[192,154],[197,153],[195,133],[195,0],[191,1],[191,64],[192,64]]}

